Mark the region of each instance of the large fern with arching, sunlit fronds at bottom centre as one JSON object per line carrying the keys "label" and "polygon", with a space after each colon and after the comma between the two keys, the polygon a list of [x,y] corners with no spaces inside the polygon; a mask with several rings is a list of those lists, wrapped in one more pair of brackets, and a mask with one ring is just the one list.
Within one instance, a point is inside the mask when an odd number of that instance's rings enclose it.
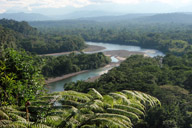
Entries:
{"label": "large fern with arching, sunlit fronds at bottom centre", "polygon": [[[95,89],[90,89],[89,93],[80,93],[75,91],[63,91],[53,94],[44,95],[31,102],[29,107],[30,119],[37,124],[46,125],[49,127],[117,127],[130,128],[136,122],[144,117],[145,110],[148,108],[157,107],[160,102],[158,99],[144,94],[142,92],[130,91],[133,93],[129,97],[124,92],[124,97],[115,99],[112,97],[112,102],[108,100],[108,96],[102,96]],[[149,99],[140,100],[134,97],[145,95]],[[129,100],[130,104],[120,102],[120,100]],[[146,102],[146,100],[148,102]],[[149,102],[153,101],[151,106]],[[140,110],[131,104],[138,104],[144,109]],[[116,106],[124,106],[114,108]],[[43,109],[42,109],[43,108]],[[127,109],[129,108],[129,109]],[[144,112],[142,112],[144,111]],[[143,116],[141,116],[141,113]]]}

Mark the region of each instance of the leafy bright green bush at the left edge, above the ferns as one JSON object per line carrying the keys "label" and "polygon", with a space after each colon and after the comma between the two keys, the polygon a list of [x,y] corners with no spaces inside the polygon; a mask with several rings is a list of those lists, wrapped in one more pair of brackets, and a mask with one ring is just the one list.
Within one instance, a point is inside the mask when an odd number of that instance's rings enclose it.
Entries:
{"label": "leafy bright green bush at the left edge, above the ferns", "polygon": [[0,105],[21,105],[41,94],[44,79],[39,61],[24,51],[1,49]]}

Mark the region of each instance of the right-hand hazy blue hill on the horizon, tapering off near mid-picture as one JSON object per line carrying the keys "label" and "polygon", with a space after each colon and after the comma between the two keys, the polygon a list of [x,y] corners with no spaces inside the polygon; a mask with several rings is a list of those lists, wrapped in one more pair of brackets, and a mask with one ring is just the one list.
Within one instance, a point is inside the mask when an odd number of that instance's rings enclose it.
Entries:
{"label": "right-hand hazy blue hill on the horizon, tapering off near mid-picture", "polygon": [[80,18],[99,22],[129,21],[138,23],[184,23],[192,24],[192,13],[163,13],[163,14],[127,14],[120,16],[101,16]]}

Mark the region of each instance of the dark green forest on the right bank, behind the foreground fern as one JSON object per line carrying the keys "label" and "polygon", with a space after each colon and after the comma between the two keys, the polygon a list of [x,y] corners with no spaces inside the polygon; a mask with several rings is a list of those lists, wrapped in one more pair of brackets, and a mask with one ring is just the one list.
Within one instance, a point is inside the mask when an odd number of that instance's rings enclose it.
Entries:
{"label": "dark green forest on the right bank, behind the foreground fern", "polygon": [[66,84],[65,90],[87,92],[95,88],[102,94],[124,89],[137,90],[157,97],[162,107],[150,110],[140,127],[190,128],[192,122],[192,54],[181,57],[146,58],[131,56],[94,83],[79,81]]}

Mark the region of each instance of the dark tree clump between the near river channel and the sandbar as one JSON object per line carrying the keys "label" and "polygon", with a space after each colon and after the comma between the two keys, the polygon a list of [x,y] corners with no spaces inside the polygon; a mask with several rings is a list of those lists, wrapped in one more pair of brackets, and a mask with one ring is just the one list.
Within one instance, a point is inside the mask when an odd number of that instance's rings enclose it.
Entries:
{"label": "dark tree clump between the near river channel and the sandbar", "polygon": [[56,77],[81,70],[97,69],[110,62],[110,58],[101,52],[94,54],[71,53],[67,56],[45,56],[43,58],[46,64],[42,68],[42,74],[45,77]]}

